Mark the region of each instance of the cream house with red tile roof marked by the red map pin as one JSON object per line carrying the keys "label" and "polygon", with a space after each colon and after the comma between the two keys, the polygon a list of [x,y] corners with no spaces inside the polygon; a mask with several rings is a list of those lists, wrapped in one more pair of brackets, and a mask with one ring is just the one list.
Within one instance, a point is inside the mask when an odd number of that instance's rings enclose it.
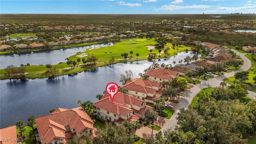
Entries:
{"label": "cream house with red tile roof marked by the red map pin", "polygon": [[110,120],[115,124],[120,124],[125,120],[134,122],[139,118],[144,118],[147,106],[144,100],[118,92],[113,102],[108,94],[105,94],[98,102],[95,102],[94,114]]}

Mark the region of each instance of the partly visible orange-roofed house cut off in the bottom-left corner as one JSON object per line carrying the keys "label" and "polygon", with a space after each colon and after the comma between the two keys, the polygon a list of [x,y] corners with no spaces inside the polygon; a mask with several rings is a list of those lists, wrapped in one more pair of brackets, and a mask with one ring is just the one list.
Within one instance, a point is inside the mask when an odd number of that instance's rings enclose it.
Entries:
{"label": "partly visible orange-roofed house cut off in the bottom-left corner", "polygon": [[16,126],[0,129],[0,144],[21,144],[18,142]]}

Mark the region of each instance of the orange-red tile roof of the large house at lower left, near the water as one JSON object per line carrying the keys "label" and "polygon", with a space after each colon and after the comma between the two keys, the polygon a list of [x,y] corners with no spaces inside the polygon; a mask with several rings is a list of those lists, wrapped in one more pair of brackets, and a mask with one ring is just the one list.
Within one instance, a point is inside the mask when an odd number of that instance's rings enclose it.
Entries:
{"label": "orange-red tile roof of the large house at lower left, near the water", "polygon": [[65,126],[70,129],[75,128],[76,132],[81,132],[85,128],[92,128],[94,122],[82,107],[70,110],[58,108],[49,115],[35,118],[40,140],[45,139],[49,143],[55,137],[65,138]]}

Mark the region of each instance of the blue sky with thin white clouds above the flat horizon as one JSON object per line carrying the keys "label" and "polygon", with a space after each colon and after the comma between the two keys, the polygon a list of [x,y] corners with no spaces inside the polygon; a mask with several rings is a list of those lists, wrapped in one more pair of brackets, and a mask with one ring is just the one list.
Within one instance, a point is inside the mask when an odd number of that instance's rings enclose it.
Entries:
{"label": "blue sky with thin white clouds above the flat horizon", "polygon": [[0,0],[0,14],[255,13],[256,0]]}

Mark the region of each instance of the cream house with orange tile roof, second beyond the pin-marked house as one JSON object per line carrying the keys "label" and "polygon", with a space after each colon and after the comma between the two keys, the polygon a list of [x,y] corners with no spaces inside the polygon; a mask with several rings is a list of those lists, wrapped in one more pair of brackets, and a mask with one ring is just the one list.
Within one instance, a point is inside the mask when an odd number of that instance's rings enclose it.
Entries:
{"label": "cream house with orange tile roof, second beyond the pin-marked house", "polygon": [[179,76],[178,72],[157,68],[155,70],[149,69],[144,75],[148,76],[147,80],[154,82],[170,82],[173,78]]}

